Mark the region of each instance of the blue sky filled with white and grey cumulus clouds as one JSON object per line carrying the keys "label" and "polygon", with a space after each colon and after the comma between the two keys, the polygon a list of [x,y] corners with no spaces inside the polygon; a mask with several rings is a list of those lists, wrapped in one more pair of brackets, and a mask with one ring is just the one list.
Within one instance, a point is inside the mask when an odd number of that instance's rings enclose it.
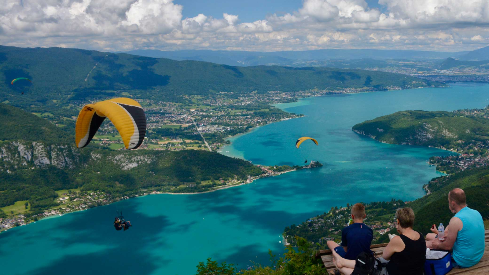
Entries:
{"label": "blue sky filled with white and grey cumulus clouds", "polygon": [[489,45],[489,0],[0,0],[0,45],[465,51]]}

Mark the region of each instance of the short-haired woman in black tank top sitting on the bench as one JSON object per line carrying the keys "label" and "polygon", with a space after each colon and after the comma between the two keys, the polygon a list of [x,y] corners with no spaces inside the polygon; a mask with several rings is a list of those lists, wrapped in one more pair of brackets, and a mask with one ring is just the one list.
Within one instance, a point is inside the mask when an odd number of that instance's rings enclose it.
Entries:
{"label": "short-haired woman in black tank top sitting on the bench", "polygon": [[[380,261],[384,266],[381,270],[375,270],[374,275],[422,275],[426,256],[426,242],[423,235],[413,230],[414,211],[409,207],[396,211],[396,229],[400,233],[394,236],[384,252]],[[342,258],[332,251],[333,263],[345,275],[350,275],[355,268],[355,260]],[[377,267],[377,263],[376,263]]]}

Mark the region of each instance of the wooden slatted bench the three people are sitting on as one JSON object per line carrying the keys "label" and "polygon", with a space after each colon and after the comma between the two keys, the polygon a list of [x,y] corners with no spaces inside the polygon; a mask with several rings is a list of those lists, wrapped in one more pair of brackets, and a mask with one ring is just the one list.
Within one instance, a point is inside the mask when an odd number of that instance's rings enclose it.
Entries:
{"label": "wooden slatted bench the three people are sitting on", "polygon": [[[486,237],[484,239],[486,243],[486,248],[484,250],[484,255],[482,256],[482,259],[477,263],[476,265],[469,267],[469,268],[454,268],[452,271],[448,273],[448,275],[455,275],[455,274],[460,274],[460,275],[476,275],[476,274],[489,274],[489,229],[486,229]],[[387,243],[385,244],[377,244],[377,245],[372,245],[370,248],[372,251],[377,253],[377,257],[382,256],[382,252],[384,251],[385,247],[387,246]],[[320,250],[317,252],[316,257],[321,257],[324,267],[328,272],[331,270],[335,269],[335,266],[333,264],[333,255],[331,253],[331,250],[326,249],[326,250]]]}

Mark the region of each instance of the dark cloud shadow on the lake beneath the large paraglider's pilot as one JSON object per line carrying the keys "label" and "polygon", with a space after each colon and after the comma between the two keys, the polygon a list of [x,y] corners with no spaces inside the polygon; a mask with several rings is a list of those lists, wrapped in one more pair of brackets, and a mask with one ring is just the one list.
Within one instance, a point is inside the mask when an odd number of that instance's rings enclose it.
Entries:
{"label": "dark cloud shadow on the lake beneath the large paraglider's pilot", "polygon": [[[122,202],[121,202],[122,203]],[[124,201],[125,209],[136,209],[135,200]],[[119,203],[120,204],[120,203]],[[125,214],[133,227],[127,231],[113,228],[111,207],[102,206],[90,209],[90,215],[78,212],[59,220],[55,230],[41,232],[47,238],[48,246],[64,251],[77,251],[65,254],[59,259],[46,259],[46,266],[27,272],[32,275],[70,275],[108,274],[114,270],[125,274],[149,275],[171,263],[171,260],[156,256],[153,251],[161,248],[171,249],[165,242],[162,232],[178,230],[184,233],[191,224],[171,228],[174,223],[168,217],[148,216],[144,213]],[[129,211],[128,211],[129,214]],[[70,217],[71,216],[71,217]],[[77,220],[90,217],[90,220]],[[137,218],[136,218],[137,217]],[[37,235],[37,236],[36,236]],[[38,234],[28,237],[28,242],[36,242]],[[86,247],[86,251],[83,250]],[[95,247],[95,248],[94,248]],[[80,248],[80,249],[73,249]],[[99,251],[96,251],[99,249]],[[76,268],[73,268],[76,267]],[[27,274],[19,272],[15,274]]]}

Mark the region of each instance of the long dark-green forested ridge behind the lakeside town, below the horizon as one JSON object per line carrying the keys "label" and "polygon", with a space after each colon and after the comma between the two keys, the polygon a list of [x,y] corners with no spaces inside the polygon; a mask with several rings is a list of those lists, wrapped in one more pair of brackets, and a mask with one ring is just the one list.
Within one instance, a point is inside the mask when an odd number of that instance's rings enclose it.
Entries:
{"label": "long dark-green forested ridge behind the lakeside town, below the horizon", "polygon": [[[26,81],[10,81],[28,77]],[[0,46],[0,102],[50,108],[84,98],[118,96],[178,100],[181,94],[299,91],[388,86],[426,87],[441,83],[380,71],[279,66],[232,67],[130,54],[69,48]],[[24,92],[24,94],[22,94]],[[34,111],[33,111],[34,112]]]}

